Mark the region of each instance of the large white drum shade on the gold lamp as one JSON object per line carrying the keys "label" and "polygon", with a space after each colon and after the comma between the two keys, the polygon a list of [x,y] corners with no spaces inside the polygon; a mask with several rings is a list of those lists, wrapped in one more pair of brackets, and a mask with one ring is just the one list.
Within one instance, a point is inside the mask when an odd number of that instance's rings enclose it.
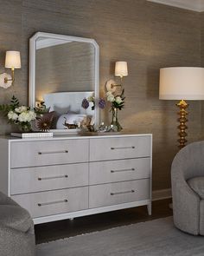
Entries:
{"label": "large white drum shade on the gold lamp", "polygon": [[204,100],[204,68],[160,69],[159,99]]}

